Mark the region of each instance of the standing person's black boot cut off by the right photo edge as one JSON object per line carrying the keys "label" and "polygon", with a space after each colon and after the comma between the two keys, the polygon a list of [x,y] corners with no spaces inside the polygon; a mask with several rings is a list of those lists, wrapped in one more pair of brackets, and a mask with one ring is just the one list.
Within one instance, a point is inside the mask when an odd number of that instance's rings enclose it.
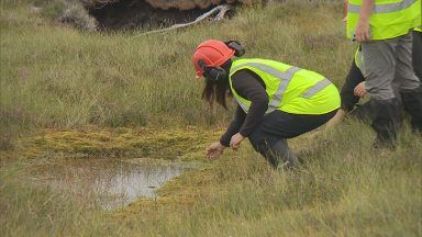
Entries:
{"label": "standing person's black boot cut off by the right photo edge", "polygon": [[412,131],[422,133],[422,87],[400,93],[404,109],[411,115]]}

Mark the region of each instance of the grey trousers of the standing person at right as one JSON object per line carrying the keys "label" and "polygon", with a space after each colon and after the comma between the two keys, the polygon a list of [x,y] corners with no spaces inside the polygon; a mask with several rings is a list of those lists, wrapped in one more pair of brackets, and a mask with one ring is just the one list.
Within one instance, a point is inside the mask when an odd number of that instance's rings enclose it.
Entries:
{"label": "grey trousers of the standing person at right", "polygon": [[413,90],[420,86],[412,68],[412,34],[362,43],[365,64],[365,87],[371,98],[396,98],[392,83],[399,90]]}

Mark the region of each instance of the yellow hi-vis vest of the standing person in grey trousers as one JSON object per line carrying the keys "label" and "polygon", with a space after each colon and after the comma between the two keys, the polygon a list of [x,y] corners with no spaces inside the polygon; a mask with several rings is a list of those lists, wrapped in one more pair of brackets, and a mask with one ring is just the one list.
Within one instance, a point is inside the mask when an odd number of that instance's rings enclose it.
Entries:
{"label": "yellow hi-vis vest of the standing person in grey trousers", "polygon": [[[363,0],[348,0],[346,34],[354,38]],[[387,40],[407,34],[421,25],[421,0],[375,0],[369,15],[371,40]]]}

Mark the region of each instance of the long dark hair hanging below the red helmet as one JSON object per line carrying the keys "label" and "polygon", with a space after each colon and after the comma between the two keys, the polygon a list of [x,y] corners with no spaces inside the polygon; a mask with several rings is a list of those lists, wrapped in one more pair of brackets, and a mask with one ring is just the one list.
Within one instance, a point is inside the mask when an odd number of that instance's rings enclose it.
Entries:
{"label": "long dark hair hanging below the red helmet", "polygon": [[202,99],[208,101],[210,108],[214,106],[214,102],[222,105],[225,110],[227,110],[227,105],[225,103],[226,95],[232,95],[229,83],[229,72],[232,66],[232,60],[227,60],[221,67],[226,71],[226,77],[222,78],[218,81],[208,80],[206,78],[206,87],[202,91]]}

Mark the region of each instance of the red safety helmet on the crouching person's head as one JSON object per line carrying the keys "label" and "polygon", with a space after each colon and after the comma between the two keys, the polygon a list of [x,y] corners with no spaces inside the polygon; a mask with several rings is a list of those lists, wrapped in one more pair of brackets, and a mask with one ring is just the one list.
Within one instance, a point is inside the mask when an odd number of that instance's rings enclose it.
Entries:
{"label": "red safety helmet on the crouching person's head", "polygon": [[203,60],[207,67],[220,67],[227,61],[235,50],[230,48],[224,42],[208,40],[201,43],[193,53],[193,65],[197,70],[197,78],[203,76],[203,68],[199,60]]}

